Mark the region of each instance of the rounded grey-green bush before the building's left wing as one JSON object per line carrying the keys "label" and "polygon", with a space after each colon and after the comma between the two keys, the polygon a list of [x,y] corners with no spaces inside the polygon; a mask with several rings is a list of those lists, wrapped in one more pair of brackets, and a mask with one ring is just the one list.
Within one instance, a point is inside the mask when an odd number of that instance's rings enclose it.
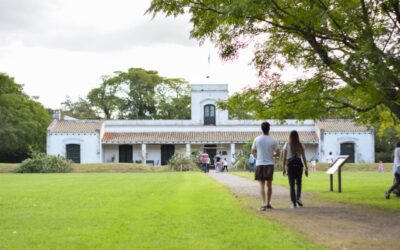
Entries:
{"label": "rounded grey-green bush before the building's left wing", "polygon": [[31,158],[24,160],[18,173],[67,173],[72,171],[72,161],[62,156],[46,155],[44,153],[33,154]]}

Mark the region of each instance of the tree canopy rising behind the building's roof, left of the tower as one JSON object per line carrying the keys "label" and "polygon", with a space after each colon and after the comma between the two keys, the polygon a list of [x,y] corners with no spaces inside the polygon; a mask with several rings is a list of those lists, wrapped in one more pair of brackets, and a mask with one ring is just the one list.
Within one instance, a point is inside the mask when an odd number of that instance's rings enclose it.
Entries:
{"label": "tree canopy rising behind the building's roof, left of the tower", "polygon": [[130,68],[103,76],[87,99],[67,98],[63,113],[78,119],[190,119],[190,85],[154,70]]}

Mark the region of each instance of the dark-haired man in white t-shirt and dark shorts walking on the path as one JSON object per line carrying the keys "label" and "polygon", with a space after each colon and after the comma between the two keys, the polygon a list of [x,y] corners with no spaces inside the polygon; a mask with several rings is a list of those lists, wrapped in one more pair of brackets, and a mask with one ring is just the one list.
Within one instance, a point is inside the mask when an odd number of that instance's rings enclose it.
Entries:
{"label": "dark-haired man in white t-shirt and dark shorts walking on the path", "polygon": [[252,154],[256,157],[255,179],[260,183],[262,205],[260,211],[272,209],[272,180],[274,175],[274,156],[279,156],[278,143],[269,136],[270,125],[268,122],[261,124],[262,135],[254,139],[251,147]]}

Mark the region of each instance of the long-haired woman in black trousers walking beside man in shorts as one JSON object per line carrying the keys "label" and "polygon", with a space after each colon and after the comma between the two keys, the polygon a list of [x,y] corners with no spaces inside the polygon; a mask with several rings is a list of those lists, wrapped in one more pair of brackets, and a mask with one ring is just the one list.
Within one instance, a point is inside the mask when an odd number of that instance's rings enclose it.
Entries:
{"label": "long-haired woman in black trousers walking beside man in shorts", "polygon": [[[303,162],[301,160],[303,158]],[[283,146],[283,175],[287,175],[290,185],[290,207],[295,208],[297,205],[303,206],[301,201],[301,179],[303,175],[303,166],[305,166],[305,175],[308,176],[308,167],[304,146],[300,142],[299,134],[296,130],[290,132],[289,142]],[[296,189],[295,189],[296,186]]]}

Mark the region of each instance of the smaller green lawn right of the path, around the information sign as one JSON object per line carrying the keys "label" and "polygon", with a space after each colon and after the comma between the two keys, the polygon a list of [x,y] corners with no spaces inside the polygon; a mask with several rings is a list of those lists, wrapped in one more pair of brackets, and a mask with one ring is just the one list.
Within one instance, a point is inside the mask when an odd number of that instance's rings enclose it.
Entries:
{"label": "smaller green lawn right of the path, around the information sign", "polygon": [[[254,173],[234,172],[254,180]],[[334,192],[329,192],[329,175],[323,171],[303,175],[303,191],[317,193],[320,198],[335,202],[374,206],[400,211],[400,199],[393,194],[390,200],[384,198],[385,191],[393,184],[392,173],[376,171],[342,171],[342,193],[337,192],[337,174],[334,175]],[[287,177],[282,172],[274,173],[274,184],[289,187]]]}

